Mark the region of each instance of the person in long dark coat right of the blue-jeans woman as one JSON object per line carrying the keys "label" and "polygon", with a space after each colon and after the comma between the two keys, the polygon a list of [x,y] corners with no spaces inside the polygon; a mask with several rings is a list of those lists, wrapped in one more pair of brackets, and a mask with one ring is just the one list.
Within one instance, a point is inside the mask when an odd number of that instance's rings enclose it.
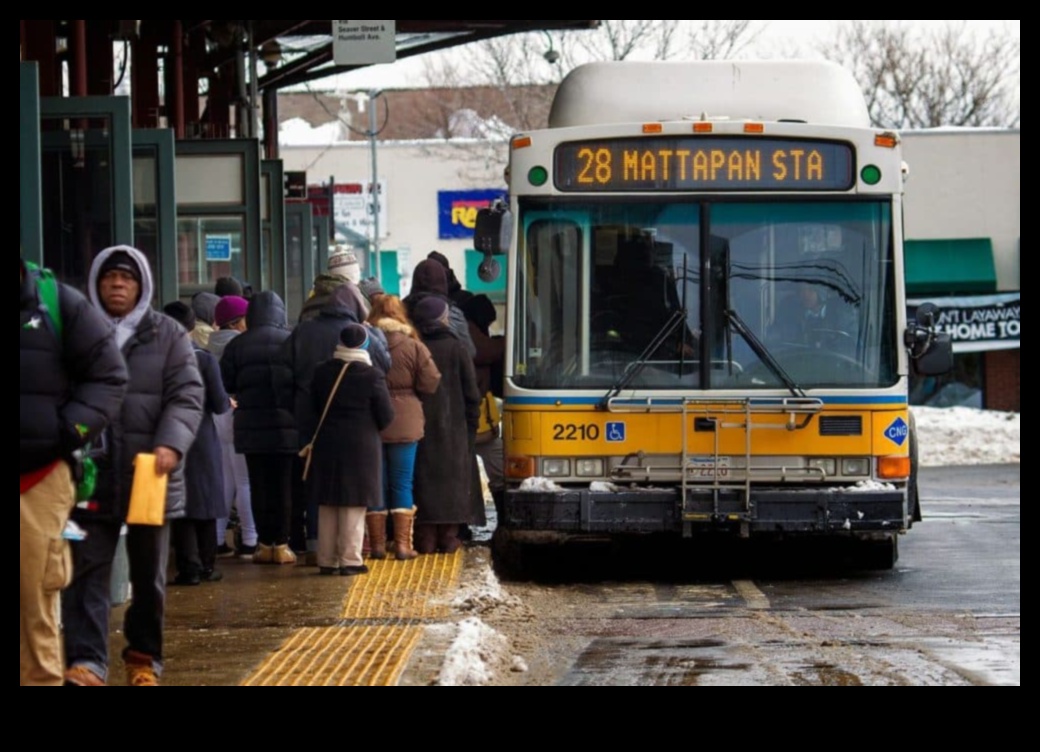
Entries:
{"label": "person in long dark coat right of the blue-jeans woman", "polygon": [[415,548],[453,553],[459,526],[485,525],[483,501],[471,495],[474,439],[480,409],[473,359],[448,325],[448,304],[431,295],[413,312],[416,329],[441,372],[440,387],[422,397],[426,429],[415,458]]}

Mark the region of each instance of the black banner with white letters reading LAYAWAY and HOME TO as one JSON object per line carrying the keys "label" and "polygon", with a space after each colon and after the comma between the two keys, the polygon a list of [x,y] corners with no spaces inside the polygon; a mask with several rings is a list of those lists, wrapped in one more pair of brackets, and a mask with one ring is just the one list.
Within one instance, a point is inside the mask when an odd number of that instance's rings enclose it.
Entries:
{"label": "black banner with white letters reading LAYAWAY and HOME TO", "polygon": [[[936,323],[940,332],[950,334],[955,353],[1021,346],[1020,292],[930,300],[939,307]],[[907,301],[907,316],[911,320],[924,302]]]}

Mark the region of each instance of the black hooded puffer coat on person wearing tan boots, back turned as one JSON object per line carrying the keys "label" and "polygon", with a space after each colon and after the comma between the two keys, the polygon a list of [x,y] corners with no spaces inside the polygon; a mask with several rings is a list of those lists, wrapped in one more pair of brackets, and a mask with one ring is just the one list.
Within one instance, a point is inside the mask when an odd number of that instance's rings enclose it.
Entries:
{"label": "black hooded puffer coat on person wearing tan boots, back turned", "polygon": [[289,338],[285,304],[272,290],[257,292],[245,331],[220,356],[224,388],[235,397],[235,451],[288,455],[300,450],[292,412],[292,372],[279,353]]}

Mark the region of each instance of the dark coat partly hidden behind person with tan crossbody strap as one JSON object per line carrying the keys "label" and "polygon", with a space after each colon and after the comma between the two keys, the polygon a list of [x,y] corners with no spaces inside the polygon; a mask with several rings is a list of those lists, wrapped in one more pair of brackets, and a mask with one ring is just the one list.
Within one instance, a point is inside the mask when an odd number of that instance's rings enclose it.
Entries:
{"label": "dark coat partly hidden behind person with tan crossbody strap", "polygon": [[[300,429],[300,446],[310,442],[318,422],[320,411],[315,411],[311,399],[311,382],[318,364],[332,358],[339,342],[339,333],[348,323],[358,320],[349,300],[348,290],[337,287],[332,297],[314,318],[296,325],[280,353],[281,364],[292,373],[292,406]],[[368,355],[372,365],[386,374],[390,370],[390,351],[386,335],[372,327],[368,329],[371,342]],[[322,404],[323,405],[323,404]]]}

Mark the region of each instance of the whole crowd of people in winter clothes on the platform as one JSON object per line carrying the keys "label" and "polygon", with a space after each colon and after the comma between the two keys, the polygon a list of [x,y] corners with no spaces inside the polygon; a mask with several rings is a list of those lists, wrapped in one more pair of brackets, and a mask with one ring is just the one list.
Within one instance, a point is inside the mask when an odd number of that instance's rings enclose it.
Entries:
{"label": "whole crowd of people in winter clothes on the platform", "polygon": [[[237,553],[291,564],[303,549],[320,574],[367,571],[366,541],[371,556],[408,560],[457,550],[461,527],[485,523],[474,359],[487,366],[472,340],[499,358],[501,342],[488,336],[483,302],[471,308],[485,325],[462,317],[459,328],[458,282],[431,256],[400,301],[360,280],[350,252],[333,254],[290,328],[276,293],[251,295],[231,278],[164,316],[150,305],[145,255],[114,247],[92,265],[93,307],[60,285],[61,312],[76,326],[51,339],[41,335],[36,277],[22,264],[22,684],[106,683],[109,582],[138,452],[155,453],[170,475],[171,524],[127,528],[122,657],[132,685],[161,675],[171,548],[175,584],[219,579],[229,504],[242,525]],[[54,379],[41,382],[41,366]],[[77,502],[76,450],[90,442],[105,446],[98,487]],[[480,453],[495,477],[500,456]]]}

